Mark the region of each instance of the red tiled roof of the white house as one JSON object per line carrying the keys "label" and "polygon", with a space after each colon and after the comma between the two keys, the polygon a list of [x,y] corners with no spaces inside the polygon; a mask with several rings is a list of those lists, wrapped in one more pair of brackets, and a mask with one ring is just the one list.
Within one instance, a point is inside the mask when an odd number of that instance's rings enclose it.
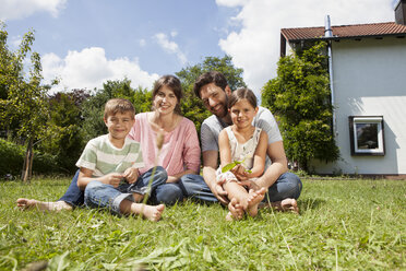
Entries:
{"label": "red tiled roof of the white house", "polygon": [[[377,36],[406,36],[406,25],[390,23],[373,24],[354,24],[332,26],[333,39],[341,38],[360,38]],[[282,35],[288,42],[319,39],[324,36],[324,26],[301,27],[301,28],[282,28]]]}

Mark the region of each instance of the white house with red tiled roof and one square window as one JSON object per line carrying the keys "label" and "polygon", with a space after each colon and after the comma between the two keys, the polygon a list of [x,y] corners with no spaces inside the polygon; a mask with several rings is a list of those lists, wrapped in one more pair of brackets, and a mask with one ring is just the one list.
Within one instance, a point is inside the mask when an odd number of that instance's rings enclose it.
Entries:
{"label": "white house with red tiled roof and one square window", "polygon": [[334,163],[312,161],[317,174],[406,178],[406,0],[395,22],[283,28],[286,47],[326,40],[330,57],[333,133],[341,151]]}

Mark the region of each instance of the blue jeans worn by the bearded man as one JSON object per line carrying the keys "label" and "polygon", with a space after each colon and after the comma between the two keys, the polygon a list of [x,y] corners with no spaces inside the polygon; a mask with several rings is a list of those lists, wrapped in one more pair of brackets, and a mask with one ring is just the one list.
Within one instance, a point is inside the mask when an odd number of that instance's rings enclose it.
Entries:
{"label": "blue jeans worn by the bearded man", "polygon": [[[180,178],[180,186],[186,197],[196,199],[203,202],[217,202],[212,190],[208,188],[203,177],[200,175],[184,175]],[[298,199],[301,192],[302,184],[300,178],[292,173],[284,173],[268,188],[267,195],[271,202],[284,199]],[[267,197],[263,201],[267,201]]]}

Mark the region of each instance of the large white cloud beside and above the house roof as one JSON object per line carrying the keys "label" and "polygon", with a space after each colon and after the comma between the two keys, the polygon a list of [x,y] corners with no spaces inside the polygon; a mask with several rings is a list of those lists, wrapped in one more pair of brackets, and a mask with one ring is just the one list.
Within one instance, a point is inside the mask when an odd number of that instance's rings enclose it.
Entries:
{"label": "large white cloud beside and above the house roof", "polygon": [[246,83],[258,95],[276,76],[280,28],[323,26],[325,15],[332,25],[393,22],[391,0],[216,0],[226,7],[241,5],[236,17],[241,30],[219,40],[220,48],[243,68]]}

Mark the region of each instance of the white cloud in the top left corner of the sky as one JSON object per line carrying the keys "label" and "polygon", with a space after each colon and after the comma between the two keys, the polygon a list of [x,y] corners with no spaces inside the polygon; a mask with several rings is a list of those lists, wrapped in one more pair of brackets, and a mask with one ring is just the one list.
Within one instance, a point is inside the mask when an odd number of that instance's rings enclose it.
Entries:
{"label": "white cloud in the top left corner of the sky", "polygon": [[49,12],[57,17],[67,0],[0,0],[0,20],[17,20],[35,12]]}

